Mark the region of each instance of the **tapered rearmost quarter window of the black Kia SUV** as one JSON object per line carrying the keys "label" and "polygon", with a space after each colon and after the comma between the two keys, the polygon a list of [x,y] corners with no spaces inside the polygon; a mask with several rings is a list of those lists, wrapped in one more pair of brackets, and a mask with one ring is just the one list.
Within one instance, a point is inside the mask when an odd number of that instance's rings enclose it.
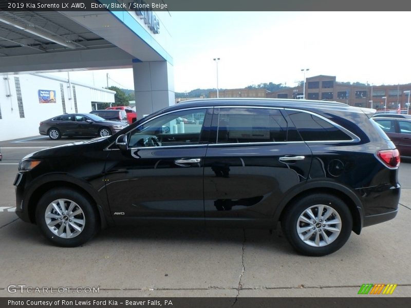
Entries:
{"label": "tapered rearmost quarter window of the black Kia SUV", "polygon": [[345,132],[314,114],[302,111],[288,111],[304,141],[349,141]]}

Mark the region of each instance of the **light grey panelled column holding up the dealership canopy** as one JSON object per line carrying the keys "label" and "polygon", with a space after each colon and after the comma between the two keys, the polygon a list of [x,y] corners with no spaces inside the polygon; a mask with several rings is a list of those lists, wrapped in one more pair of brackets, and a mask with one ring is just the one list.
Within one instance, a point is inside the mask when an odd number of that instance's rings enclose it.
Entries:
{"label": "light grey panelled column holding up the dealership canopy", "polygon": [[173,66],[167,61],[133,64],[137,119],[175,104]]}

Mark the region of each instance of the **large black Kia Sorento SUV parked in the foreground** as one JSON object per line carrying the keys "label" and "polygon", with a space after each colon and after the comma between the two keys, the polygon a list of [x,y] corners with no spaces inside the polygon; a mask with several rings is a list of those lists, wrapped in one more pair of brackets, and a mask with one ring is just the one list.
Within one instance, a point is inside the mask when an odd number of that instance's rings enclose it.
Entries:
{"label": "large black Kia Sorento SUV parked in the foreground", "polygon": [[399,153],[373,111],[303,100],[180,103],[114,136],[26,156],[16,213],[61,246],[124,223],[281,221],[296,251],[327,255],[351,231],[397,215]]}

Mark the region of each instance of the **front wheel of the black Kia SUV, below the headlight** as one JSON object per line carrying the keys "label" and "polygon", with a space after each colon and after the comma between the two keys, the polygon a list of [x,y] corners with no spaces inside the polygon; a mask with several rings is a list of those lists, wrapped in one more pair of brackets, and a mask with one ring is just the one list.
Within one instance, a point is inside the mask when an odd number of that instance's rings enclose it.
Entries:
{"label": "front wheel of the black Kia SUV, below the headlight", "polygon": [[82,245],[100,230],[97,209],[73,189],[54,188],[47,191],[40,199],[35,215],[42,234],[62,247]]}

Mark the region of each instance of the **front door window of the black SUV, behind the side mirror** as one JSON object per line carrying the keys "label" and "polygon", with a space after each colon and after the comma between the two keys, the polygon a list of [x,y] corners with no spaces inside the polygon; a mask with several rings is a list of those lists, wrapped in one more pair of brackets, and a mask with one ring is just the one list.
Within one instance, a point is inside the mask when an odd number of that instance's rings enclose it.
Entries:
{"label": "front door window of the black SUV, behind the side mirror", "polygon": [[191,109],[161,115],[132,132],[129,147],[197,145],[207,109]]}

